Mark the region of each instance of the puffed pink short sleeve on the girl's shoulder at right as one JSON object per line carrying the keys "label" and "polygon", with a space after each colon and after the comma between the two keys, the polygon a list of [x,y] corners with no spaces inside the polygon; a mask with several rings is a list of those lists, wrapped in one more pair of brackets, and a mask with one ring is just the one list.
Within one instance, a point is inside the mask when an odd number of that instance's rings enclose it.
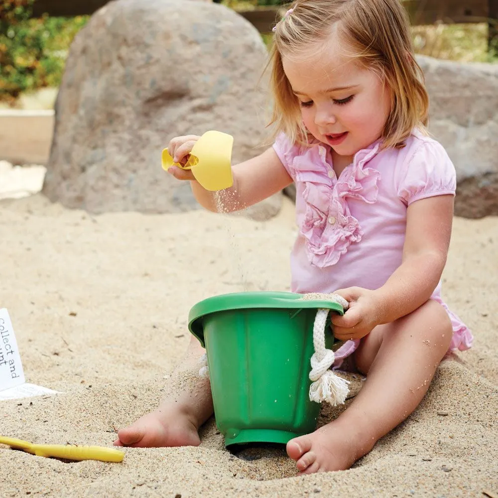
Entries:
{"label": "puffed pink short sleeve on the girl's shoulder at right", "polygon": [[455,166],[435,140],[423,140],[406,156],[397,173],[397,194],[407,206],[427,197],[455,195]]}

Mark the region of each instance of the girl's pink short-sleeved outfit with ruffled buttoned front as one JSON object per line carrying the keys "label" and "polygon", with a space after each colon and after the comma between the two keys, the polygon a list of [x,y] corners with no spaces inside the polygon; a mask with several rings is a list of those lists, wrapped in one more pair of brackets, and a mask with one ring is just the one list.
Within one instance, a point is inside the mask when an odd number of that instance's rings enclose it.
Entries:
{"label": "girl's pink short-sleeved outfit with ruffled buttoned front", "polygon": [[[339,178],[323,143],[300,146],[282,133],[273,148],[296,185],[293,292],[381,287],[401,264],[407,207],[426,197],[455,195],[455,168],[446,151],[418,131],[402,149],[380,150],[376,141],[360,150]],[[431,298],[452,321],[450,350],[469,349],[472,334],[441,299],[441,282]],[[347,341],[336,352],[336,367],[358,344]]]}

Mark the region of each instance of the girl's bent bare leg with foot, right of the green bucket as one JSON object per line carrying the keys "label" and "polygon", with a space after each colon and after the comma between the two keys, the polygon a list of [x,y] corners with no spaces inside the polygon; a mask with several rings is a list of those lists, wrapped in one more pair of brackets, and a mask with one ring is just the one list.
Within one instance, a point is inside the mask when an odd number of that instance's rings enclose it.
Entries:
{"label": "girl's bent bare leg with foot, right of the green bucket", "polygon": [[356,352],[368,374],[351,405],[334,421],[287,443],[301,473],[349,469],[382,436],[402,422],[424,397],[453,331],[436,301],[366,336]]}

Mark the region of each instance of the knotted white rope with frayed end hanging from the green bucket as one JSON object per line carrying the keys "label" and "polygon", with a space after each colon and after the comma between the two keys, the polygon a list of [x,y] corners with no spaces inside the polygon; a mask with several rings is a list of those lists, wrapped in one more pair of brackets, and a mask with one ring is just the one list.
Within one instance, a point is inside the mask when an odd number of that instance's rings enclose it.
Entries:
{"label": "knotted white rope with frayed end hanging from the green bucket", "polygon": [[[340,301],[339,301],[340,302]],[[342,304],[342,302],[340,302]],[[313,346],[315,353],[311,357],[309,397],[311,401],[321,403],[327,401],[332,406],[343,404],[349,393],[349,380],[329,370],[334,363],[334,352],[325,348],[325,325],[327,323],[328,309],[319,309],[316,313],[313,326]]]}

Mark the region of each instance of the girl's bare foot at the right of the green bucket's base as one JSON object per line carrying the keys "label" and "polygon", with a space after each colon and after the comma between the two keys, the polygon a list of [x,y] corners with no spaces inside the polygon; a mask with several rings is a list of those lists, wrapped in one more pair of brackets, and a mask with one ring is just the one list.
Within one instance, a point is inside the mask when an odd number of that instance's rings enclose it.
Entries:
{"label": "girl's bare foot at the right of the green bucket's base", "polygon": [[373,448],[376,440],[348,422],[336,419],[287,443],[287,455],[297,462],[299,474],[349,469]]}

